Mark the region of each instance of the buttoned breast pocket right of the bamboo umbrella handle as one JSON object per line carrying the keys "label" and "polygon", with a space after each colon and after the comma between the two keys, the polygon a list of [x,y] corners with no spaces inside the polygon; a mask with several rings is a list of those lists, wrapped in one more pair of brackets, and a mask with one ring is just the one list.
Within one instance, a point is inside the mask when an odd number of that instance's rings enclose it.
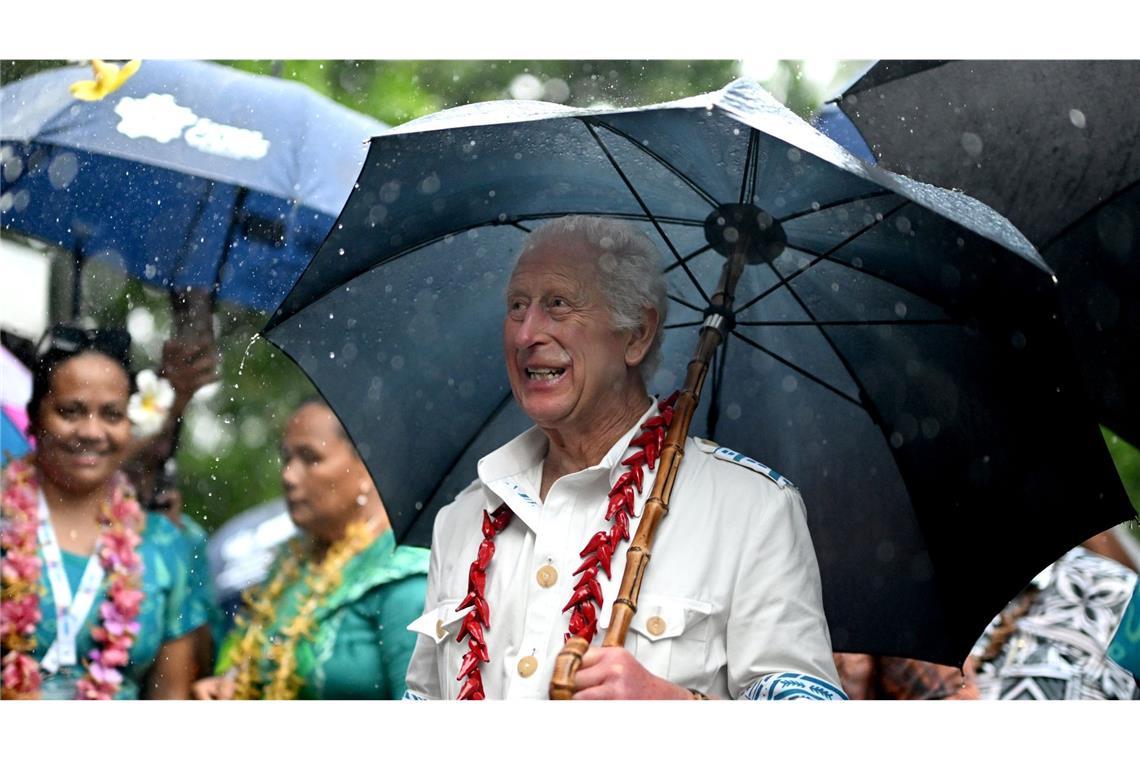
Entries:
{"label": "buttoned breast pocket right of the bamboo umbrella handle", "polygon": [[681,685],[698,683],[707,668],[711,614],[708,602],[644,594],[626,648],[654,676]]}

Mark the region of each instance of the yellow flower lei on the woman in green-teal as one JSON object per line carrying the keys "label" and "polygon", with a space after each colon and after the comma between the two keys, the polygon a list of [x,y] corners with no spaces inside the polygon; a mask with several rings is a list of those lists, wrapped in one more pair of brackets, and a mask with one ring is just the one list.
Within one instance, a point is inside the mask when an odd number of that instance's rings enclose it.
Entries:
{"label": "yellow flower lei on the woman in green-teal", "polygon": [[[296,615],[270,639],[266,631],[277,616],[277,602],[285,589],[301,575],[304,548],[299,540],[290,544],[288,556],[274,573],[272,579],[254,598],[245,593],[249,619],[239,616],[238,627],[244,627],[241,641],[235,647],[234,661],[237,672],[234,677],[235,700],[292,700],[295,698],[304,680],[296,673],[296,645],[301,639],[312,640],[316,631],[314,615],[325,598],[341,585],[341,573],[349,559],[359,554],[373,540],[367,522],[356,522],[344,530],[344,536],[328,547],[325,557],[317,564],[306,585],[309,594],[298,607]],[[259,664],[264,653],[277,665],[269,683],[261,688]]]}

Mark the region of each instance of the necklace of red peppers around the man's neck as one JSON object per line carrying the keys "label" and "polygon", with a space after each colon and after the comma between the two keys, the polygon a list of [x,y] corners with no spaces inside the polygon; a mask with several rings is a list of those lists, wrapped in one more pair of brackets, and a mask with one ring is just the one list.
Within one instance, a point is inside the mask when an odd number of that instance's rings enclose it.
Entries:
{"label": "necklace of red peppers around the man's neck", "polygon": [[[567,606],[562,608],[562,612],[573,610],[570,614],[570,631],[565,635],[567,639],[580,636],[591,641],[597,632],[597,611],[602,606],[602,585],[597,580],[597,572],[601,570],[606,578],[610,578],[610,561],[618,545],[629,540],[629,518],[634,516],[636,496],[634,490],[636,489],[637,493],[642,492],[642,484],[645,481],[642,467],[648,466],[649,471],[653,472],[661,456],[665,432],[673,422],[673,406],[679,394],[679,391],[675,391],[668,399],[659,401],[657,404],[659,414],[646,419],[642,424],[642,432],[629,441],[629,446],[640,447],[642,450],[621,461],[629,469],[622,473],[610,489],[610,501],[605,509],[605,518],[612,523],[610,529],[594,533],[579,554],[585,561],[573,574],[580,574],[581,578],[575,585]],[[495,537],[511,524],[512,516],[506,505],[502,505],[490,514],[483,510],[483,540],[467,574],[467,595],[456,607],[456,612],[470,610],[456,636],[457,641],[463,641],[463,638],[467,637],[467,651],[459,662],[459,675],[456,677],[456,680],[466,679],[459,689],[459,700],[484,698],[480,667],[484,662],[490,662],[483,637],[483,629],[490,628],[490,607],[484,596],[487,569],[490,566],[491,557],[495,556]]]}

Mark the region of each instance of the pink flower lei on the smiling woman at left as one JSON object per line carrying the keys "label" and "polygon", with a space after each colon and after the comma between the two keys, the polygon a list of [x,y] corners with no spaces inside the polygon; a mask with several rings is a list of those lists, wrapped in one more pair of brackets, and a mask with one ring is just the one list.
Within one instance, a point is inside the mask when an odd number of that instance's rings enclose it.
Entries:
{"label": "pink flower lei on the smiling woman at left", "polygon": [[[40,622],[40,571],[36,555],[39,483],[30,458],[13,461],[3,474],[0,544],[3,547],[2,596],[0,596],[0,645],[3,648],[2,696],[38,698],[41,679],[35,648]],[[123,683],[120,668],[138,636],[142,603],[141,542],[142,510],[127,476],[115,473],[111,500],[99,515],[104,525],[96,545],[99,563],[107,574],[107,598],[99,605],[100,626],[91,631],[101,646],[88,652],[87,672],[75,687],[80,700],[111,700]]]}

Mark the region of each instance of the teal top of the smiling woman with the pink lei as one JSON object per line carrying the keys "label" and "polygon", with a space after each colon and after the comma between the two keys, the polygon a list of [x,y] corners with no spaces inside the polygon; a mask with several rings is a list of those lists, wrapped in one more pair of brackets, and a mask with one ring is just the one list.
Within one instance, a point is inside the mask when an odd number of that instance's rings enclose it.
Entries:
{"label": "teal top of the smiling woman with the pink lei", "polygon": [[[164,641],[180,638],[206,622],[206,606],[201,595],[192,593],[190,542],[186,536],[164,515],[146,513],[146,525],[142,529],[142,542],[138,548],[142,558],[142,607],[139,612],[139,635],[131,646],[130,662],[123,669],[123,685],[115,695],[116,700],[137,700],[140,697],[144,679],[150,670],[158,649]],[[40,553],[43,561],[43,554]],[[64,570],[72,591],[79,588],[80,578],[87,566],[88,557],[63,553]],[[83,675],[83,660],[87,653],[95,648],[91,640],[91,628],[99,623],[99,604],[106,598],[106,583],[91,611],[83,622],[76,640],[76,653],[80,663],[68,673],[74,680]],[[43,657],[51,641],[56,638],[56,615],[51,588],[43,583],[40,596],[42,619],[35,629],[35,649],[32,656]],[[70,688],[58,688],[56,681],[60,676],[43,675],[43,696],[50,698],[54,693],[71,694]],[[52,686],[57,686],[52,688]]]}

